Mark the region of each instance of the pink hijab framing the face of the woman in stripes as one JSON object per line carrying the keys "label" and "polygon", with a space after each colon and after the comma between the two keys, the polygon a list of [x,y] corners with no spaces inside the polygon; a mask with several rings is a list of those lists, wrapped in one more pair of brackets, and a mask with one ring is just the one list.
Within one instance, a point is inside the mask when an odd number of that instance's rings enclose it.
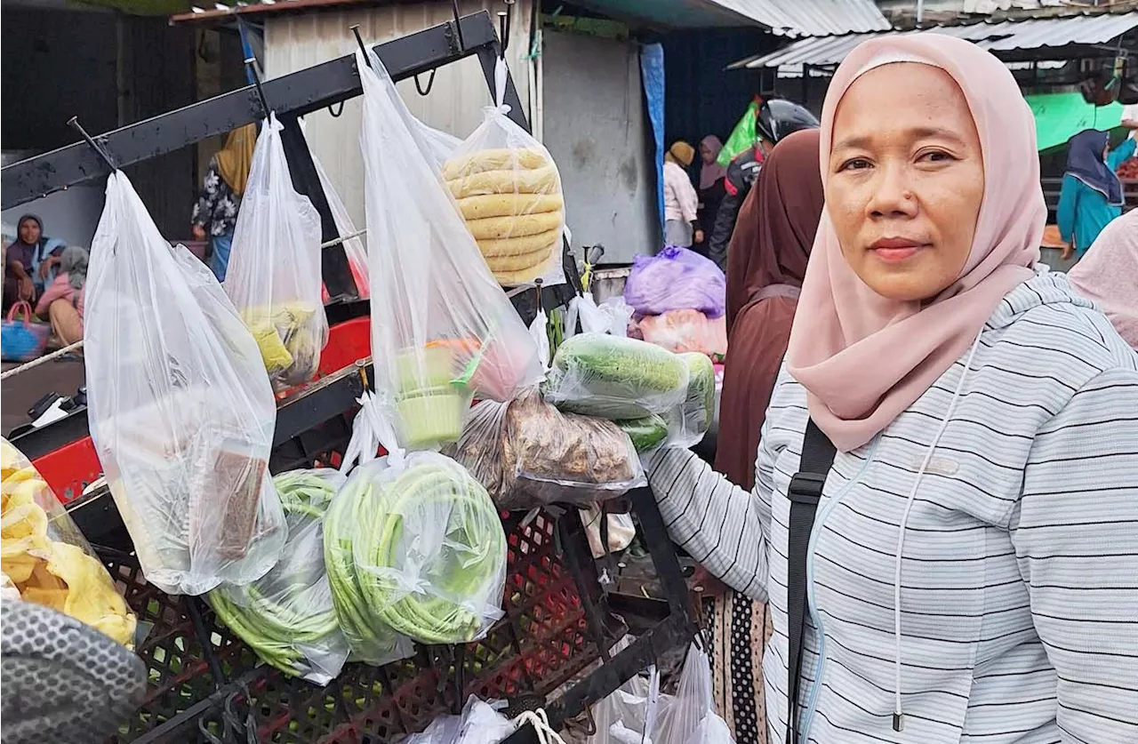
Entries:
{"label": "pink hijab framing the face of the woman in stripes", "polygon": [[807,389],[810,418],[842,452],[873,439],[968,349],[1000,299],[1032,276],[1047,221],[1036,124],[1012,73],[971,42],[933,33],[867,41],[838,68],[822,110],[823,182],[839,101],[860,75],[891,63],[939,67],[960,86],[980,133],[984,197],[960,276],[924,303],[869,289],[823,214],[786,362]]}

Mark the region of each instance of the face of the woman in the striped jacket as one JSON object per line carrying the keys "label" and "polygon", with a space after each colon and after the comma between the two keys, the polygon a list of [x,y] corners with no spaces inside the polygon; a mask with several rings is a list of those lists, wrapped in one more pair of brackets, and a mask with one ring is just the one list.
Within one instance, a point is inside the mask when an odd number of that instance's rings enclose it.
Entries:
{"label": "face of the woman in the striped jacket", "polygon": [[924,300],[959,278],[984,168],[948,73],[901,63],[861,75],[838,106],[828,168],[826,210],[847,263],[871,289]]}

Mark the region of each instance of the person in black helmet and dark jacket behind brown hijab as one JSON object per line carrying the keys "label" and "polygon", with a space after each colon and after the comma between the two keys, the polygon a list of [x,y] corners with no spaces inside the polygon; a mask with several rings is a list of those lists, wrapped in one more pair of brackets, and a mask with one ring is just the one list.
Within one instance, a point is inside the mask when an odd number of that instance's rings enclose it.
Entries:
{"label": "person in black helmet and dark jacket behind brown hijab", "polygon": [[766,154],[787,134],[817,127],[817,117],[798,104],[778,98],[760,104],[754,122],[757,141],[737,155],[727,167],[727,180],[724,183],[727,193],[719,202],[711,237],[708,239],[708,257],[719,268],[727,270],[727,246],[735,232],[735,220],[759,177]]}

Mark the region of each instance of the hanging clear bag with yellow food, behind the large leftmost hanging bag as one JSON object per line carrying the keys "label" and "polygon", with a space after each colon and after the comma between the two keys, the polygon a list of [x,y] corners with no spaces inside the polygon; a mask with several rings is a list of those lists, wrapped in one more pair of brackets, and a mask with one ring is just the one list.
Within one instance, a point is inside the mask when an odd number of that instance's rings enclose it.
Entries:
{"label": "hanging clear bag with yellow food, behind the large leftmost hanging bag", "polygon": [[282,129],[274,115],[261,127],[225,275],[278,391],[311,380],[328,342],[320,215],[292,190]]}

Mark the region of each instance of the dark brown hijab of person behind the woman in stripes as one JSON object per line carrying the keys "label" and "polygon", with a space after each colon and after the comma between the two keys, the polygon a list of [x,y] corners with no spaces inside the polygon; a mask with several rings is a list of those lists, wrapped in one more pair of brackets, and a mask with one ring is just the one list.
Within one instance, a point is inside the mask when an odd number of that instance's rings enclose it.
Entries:
{"label": "dark brown hijab of person behind the woman in stripes", "polygon": [[772,151],[739,212],[727,251],[727,330],[768,287],[801,287],[824,196],[818,130],[785,138]]}

